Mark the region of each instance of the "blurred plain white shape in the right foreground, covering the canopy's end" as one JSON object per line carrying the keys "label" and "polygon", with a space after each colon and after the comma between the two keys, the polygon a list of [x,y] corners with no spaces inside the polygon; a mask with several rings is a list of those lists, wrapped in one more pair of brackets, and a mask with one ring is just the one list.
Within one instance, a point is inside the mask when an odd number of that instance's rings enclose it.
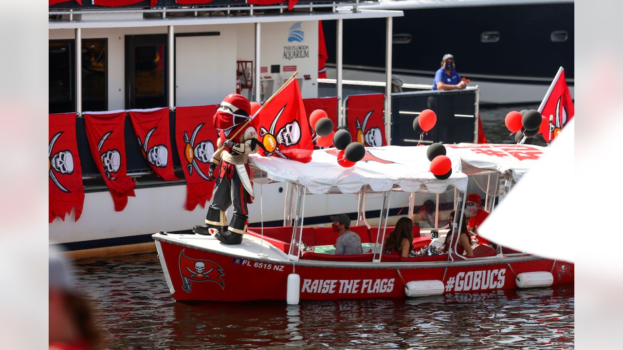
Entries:
{"label": "blurred plain white shape in the right foreground, covering the canopy's end", "polygon": [[575,177],[574,120],[487,217],[478,228],[479,235],[540,257],[575,260],[574,226],[594,218],[584,215],[589,212],[575,211],[587,206],[573,206],[580,190],[571,186]]}

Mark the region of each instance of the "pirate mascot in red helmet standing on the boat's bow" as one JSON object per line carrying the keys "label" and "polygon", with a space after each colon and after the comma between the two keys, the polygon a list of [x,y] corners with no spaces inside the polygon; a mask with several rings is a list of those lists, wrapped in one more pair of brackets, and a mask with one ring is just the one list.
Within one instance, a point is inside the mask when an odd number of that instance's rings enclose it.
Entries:
{"label": "pirate mascot in red helmet standing on the boat's bow", "polygon": [[[247,232],[247,202],[253,196],[249,179],[249,154],[258,151],[257,131],[249,120],[251,105],[242,95],[232,93],[221,102],[214,115],[218,130],[218,151],[210,160],[209,177],[216,178],[212,205],[207,210],[206,224],[194,227],[197,234],[211,235],[224,244],[240,244]],[[234,216],[227,226],[227,208],[234,205]]]}

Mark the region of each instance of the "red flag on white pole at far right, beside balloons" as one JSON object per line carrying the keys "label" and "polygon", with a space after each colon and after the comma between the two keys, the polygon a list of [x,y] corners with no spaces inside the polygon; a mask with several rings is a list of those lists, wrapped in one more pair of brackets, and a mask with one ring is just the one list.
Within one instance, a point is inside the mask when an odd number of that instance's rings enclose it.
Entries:
{"label": "red flag on white pole at far right, beside balloons", "polygon": [[549,116],[554,116],[553,123],[549,125],[549,133],[543,133],[543,138],[548,142],[550,141],[549,135],[552,136],[551,138],[555,138],[563,126],[573,118],[575,108],[573,107],[571,92],[569,92],[569,87],[564,78],[563,67],[558,69],[558,73],[556,73],[556,77],[554,77],[554,81],[549,86],[549,90],[538,110],[548,120]]}

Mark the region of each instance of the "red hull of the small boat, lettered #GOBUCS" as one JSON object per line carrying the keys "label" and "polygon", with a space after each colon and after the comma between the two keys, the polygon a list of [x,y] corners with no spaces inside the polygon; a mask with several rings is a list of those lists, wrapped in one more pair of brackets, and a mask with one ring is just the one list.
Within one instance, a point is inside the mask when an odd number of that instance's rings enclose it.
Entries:
{"label": "red hull of the small boat, lettered #GOBUCS", "polygon": [[[516,275],[525,272],[551,272],[553,285],[574,280],[573,264],[533,256],[429,263],[293,263],[159,239],[156,244],[169,290],[180,301],[285,300],[290,273],[300,276],[301,300],[404,298],[405,282],[422,280],[442,281],[444,294],[510,290],[518,288]],[[187,266],[198,261],[206,264],[206,271],[212,268],[208,277],[189,277],[193,269]]]}

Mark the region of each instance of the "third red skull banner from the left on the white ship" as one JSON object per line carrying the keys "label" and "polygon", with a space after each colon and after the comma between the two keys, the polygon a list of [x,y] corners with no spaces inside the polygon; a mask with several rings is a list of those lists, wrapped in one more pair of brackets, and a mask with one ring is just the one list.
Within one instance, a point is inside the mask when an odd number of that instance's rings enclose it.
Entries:
{"label": "third red skull banner from the left on the white ship", "polygon": [[169,108],[130,110],[138,147],[151,170],[164,181],[176,181],[169,134]]}

